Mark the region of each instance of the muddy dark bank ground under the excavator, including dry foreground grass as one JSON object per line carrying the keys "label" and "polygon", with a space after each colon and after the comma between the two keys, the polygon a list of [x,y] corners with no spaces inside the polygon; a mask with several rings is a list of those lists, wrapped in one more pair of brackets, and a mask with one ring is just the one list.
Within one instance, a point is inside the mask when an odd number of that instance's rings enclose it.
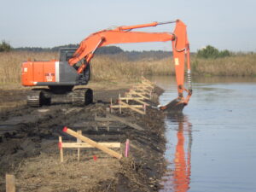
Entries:
{"label": "muddy dark bank ground under the excavator, including dry foreground grass", "polygon": [[[0,113],[0,191],[5,191],[5,174],[16,177],[19,191],[157,191],[166,163],[164,114],[147,108],[142,115],[124,109],[114,115],[143,127],[137,131],[119,122],[109,125],[97,123],[95,116],[106,117],[106,108],[112,97],[115,101],[125,90],[96,90],[94,103],[84,108],[70,103],[55,102],[42,108],[28,108],[24,104],[27,90],[1,90],[0,104],[12,103]],[[154,89],[156,96],[162,90]],[[60,162],[58,137],[73,141],[74,137],[62,131],[68,126],[96,142],[119,142],[114,149],[124,154],[125,141],[130,140],[130,156],[117,160],[100,150],[64,149]],[[96,129],[97,127],[97,129]]]}

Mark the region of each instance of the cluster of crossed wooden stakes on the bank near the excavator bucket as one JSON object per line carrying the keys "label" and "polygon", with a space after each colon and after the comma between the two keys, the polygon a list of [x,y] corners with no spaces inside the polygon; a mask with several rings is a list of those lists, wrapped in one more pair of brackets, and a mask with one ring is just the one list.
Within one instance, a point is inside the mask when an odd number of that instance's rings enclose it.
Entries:
{"label": "cluster of crossed wooden stakes on the bank near the excavator bucket", "polygon": [[[122,108],[130,108],[137,113],[146,114],[146,108],[149,106],[146,101],[152,99],[153,90],[154,83],[142,77],[142,83],[134,84],[124,97],[119,94],[118,104],[114,105],[112,98],[110,99],[110,113],[114,108],[118,108],[119,113],[122,113]],[[129,103],[131,101],[137,104]]]}

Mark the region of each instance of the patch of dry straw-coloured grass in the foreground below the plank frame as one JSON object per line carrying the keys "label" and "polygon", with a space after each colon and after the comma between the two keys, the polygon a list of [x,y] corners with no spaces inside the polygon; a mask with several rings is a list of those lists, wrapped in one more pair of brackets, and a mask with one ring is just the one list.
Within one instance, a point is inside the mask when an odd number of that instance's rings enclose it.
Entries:
{"label": "patch of dry straw-coloured grass in the foreground below the plank frame", "polygon": [[[65,153],[64,163],[58,153],[42,153],[24,160],[15,169],[19,191],[98,191],[101,182],[116,179],[119,160],[101,157],[95,161],[91,155],[78,161],[75,153]],[[83,150],[83,155],[86,153]]]}

